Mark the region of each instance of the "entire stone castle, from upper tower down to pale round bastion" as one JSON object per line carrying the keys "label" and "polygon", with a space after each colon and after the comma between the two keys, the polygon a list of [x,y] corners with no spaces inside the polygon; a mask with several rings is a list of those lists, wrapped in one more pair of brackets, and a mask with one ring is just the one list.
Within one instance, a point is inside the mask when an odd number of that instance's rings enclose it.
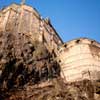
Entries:
{"label": "entire stone castle, from upper tower down to pale round bastion", "polygon": [[[12,4],[2,9],[0,33],[2,32],[13,35],[19,33],[28,37],[32,43],[34,41],[43,43],[47,50],[54,54],[65,82],[80,81],[85,78],[99,79],[100,44],[87,38],[63,43],[50,20],[41,18],[35,8]],[[2,41],[0,45],[1,43]]]}

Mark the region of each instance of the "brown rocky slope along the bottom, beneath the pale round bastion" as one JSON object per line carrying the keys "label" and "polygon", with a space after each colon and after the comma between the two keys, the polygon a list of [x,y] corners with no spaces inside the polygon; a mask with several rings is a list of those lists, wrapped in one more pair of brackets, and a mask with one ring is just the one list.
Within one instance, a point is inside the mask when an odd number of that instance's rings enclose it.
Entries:
{"label": "brown rocky slope along the bottom, beneath the pale round bastion", "polygon": [[89,80],[65,84],[61,78],[11,91],[5,100],[99,100]]}

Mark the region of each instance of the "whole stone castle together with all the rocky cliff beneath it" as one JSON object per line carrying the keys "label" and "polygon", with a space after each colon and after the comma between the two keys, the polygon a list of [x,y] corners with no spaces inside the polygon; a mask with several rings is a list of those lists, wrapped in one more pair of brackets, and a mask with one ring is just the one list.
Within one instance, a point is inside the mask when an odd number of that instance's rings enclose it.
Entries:
{"label": "whole stone castle together with all the rocky cliff beneath it", "polygon": [[100,44],[83,38],[62,44],[34,8],[2,9],[0,100],[100,100]]}

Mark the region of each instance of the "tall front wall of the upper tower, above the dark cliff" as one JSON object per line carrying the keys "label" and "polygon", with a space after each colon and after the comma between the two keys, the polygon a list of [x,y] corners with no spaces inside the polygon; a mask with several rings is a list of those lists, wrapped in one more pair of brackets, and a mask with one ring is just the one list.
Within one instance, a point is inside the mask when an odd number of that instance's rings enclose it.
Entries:
{"label": "tall front wall of the upper tower, above the dark cliff", "polygon": [[30,6],[12,4],[0,12],[0,32],[16,32],[33,36],[39,32],[40,15]]}

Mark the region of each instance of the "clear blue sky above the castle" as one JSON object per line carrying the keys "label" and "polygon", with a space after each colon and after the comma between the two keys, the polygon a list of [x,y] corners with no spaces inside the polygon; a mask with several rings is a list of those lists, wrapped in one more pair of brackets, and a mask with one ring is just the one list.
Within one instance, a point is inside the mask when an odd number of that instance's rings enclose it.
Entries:
{"label": "clear blue sky above the castle", "polygon": [[[21,0],[0,0],[0,8]],[[49,17],[64,42],[87,37],[100,42],[100,0],[26,0]]]}

